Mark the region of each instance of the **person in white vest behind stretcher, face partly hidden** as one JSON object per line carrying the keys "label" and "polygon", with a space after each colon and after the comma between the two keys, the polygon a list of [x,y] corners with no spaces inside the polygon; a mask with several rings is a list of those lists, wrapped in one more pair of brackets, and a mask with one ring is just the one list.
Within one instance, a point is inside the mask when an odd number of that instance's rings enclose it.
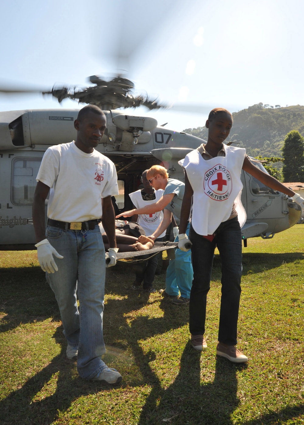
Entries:
{"label": "person in white vest behind stretcher, face partly hidden", "polygon": [[[136,190],[136,192],[129,193],[129,197],[133,202],[135,208],[145,207],[146,205],[153,204],[154,202],[159,201],[159,199],[163,195],[163,190],[158,189],[154,190],[154,188],[150,185],[149,181],[146,178],[148,170],[143,171],[142,183],[143,189]],[[158,226],[163,221],[163,211],[156,211],[151,214],[136,214],[132,216],[132,221],[137,221],[138,224],[141,225],[146,236],[152,235]],[[155,242],[161,242],[163,240],[164,235],[166,234],[166,230],[164,230],[158,237],[153,240]],[[137,266],[135,272],[135,281],[132,285],[132,289],[139,289],[141,283],[143,283],[143,291],[144,292],[156,292],[156,289],[152,287],[152,283],[155,277],[155,270],[157,267],[159,253],[154,255],[149,260],[139,264]]]}

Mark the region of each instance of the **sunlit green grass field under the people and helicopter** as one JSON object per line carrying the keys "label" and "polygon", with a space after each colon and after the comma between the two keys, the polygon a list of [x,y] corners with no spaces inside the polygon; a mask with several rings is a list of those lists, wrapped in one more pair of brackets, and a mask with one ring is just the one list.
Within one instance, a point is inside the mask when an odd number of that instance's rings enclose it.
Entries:
{"label": "sunlit green grass field under the people and helicopter", "polygon": [[[107,270],[104,356],[116,388],[78,377],[36,252],[0,252],[0,424],[304,424],[304,225],[243,249],[238,347],[217,358],[221,261],[207,304],[207,351],[189,343],[188,307],[130,289]],[[165,275],[155,278],[164,287]]]}

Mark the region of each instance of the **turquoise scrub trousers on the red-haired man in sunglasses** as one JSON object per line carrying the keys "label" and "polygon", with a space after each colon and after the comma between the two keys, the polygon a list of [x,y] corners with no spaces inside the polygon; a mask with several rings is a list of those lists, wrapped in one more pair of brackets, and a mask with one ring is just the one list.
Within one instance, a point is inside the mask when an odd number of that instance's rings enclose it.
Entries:
{"label": "turquoise scrub trousers on the red-haired man in sunglasses", "polygon": [[[189,235],[190,224],[188,223],[186,235]],[[178,236],[175,238],[178,242]],[[169,295],[178,295],[190,298],[190,290],[193,279],[193,269],[191,263],[191,251],[184,252],[181,249],[175,249],[175,259],[169,261],[166,272],[166,293]]]}

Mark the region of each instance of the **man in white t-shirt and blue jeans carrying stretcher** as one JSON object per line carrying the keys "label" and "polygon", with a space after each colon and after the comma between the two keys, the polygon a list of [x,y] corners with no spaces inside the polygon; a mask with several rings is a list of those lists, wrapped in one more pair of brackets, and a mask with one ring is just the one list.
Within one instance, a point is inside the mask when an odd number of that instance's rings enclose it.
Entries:
{"label": "man in white t-shirt and blue jeans carrying stretcher", "polygon": [[[106,129],[103,111],[85,106],[74,126],[76,141],[49,147],[38,171],[33,202],[37,255],[60,309],[67,357],[77,358],[80,377],[116,384],[121,375],[101,360],[106,352],[106,262],[98,220],[101,218],[111,247],[108,266],[114,266],[118,249],[111,196],[118,194],[117,174],[112,161],[95,150]],[[45,229],[44,205],[49,192]]]}

